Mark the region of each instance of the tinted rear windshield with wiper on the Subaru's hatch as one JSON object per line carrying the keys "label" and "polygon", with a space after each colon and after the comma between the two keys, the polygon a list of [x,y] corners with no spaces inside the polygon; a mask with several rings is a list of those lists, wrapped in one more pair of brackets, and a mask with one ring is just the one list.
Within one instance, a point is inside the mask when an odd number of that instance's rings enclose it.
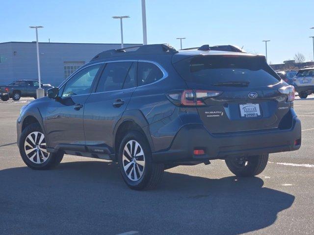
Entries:
{"label": "tinted rear windshield with wiper on the Subaru's hatch", "polygon": [[262,57],[196,56],[174,66],[184,80],[211,86],[261,87],[280,81]]}

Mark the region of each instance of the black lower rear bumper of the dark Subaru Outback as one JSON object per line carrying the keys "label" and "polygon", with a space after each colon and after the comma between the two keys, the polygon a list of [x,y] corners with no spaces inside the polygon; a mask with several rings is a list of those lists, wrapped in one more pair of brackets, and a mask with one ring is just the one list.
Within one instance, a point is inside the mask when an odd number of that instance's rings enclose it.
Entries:
{"label": "black lower rear bumper of the dark Subaru Outback", "polygon": [[[295,140],[300,140],[298,145]],[[212,135],[202,124],[188,124],[177,133],[170,148],[153,153],[155,163],[178,163],[224,159],[232,155],[258,155],[286,152],[301,146],[301,122],[293,118],[287,130],[251,131],[236,134]],[[194,155],[194,149],[205,150],[204,155]]]}

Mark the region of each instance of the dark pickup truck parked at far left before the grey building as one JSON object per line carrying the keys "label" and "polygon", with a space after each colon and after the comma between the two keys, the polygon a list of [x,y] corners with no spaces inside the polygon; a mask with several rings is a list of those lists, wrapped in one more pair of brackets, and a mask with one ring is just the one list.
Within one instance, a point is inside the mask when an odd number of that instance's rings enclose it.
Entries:
{"label": "dark pickup truck parked at far left before the grey building", "polygon": [[[7,86],[0,86],[0,98],[7,101],[9,98],[19,100],[21,97],[34,97],[36,98],[36,89],[39,83],[36,80],[18,80],[10,83]],[[53,88],[50,84],[41,84],[41,87],[47,94],[47,90]]]}

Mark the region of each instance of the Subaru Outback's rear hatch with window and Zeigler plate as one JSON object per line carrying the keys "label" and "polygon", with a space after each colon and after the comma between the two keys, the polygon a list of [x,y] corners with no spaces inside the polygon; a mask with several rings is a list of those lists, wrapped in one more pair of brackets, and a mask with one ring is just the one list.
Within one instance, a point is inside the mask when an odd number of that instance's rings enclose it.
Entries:
{"label": "Subaru Outback's rear hatch with window and Zeigler plate", "polygon": [[198,55],[174,67],[188,89],[215,91],[197,110],[210,133],[230,133],[278,128],[288,113],[287,86],[267,65],[263,56],[246,54]]}

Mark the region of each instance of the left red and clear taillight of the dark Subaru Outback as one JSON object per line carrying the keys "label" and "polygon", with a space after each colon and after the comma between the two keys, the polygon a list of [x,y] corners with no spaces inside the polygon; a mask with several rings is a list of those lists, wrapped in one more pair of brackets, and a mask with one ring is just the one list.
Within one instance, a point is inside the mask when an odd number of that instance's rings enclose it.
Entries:
{"label": "left red and clear taillight of the dark Subaru Outback", "polygon": [[221,93],[219,91],[207,90],[183,90],[170,92],[168,97],[170,101],[178,106],[202,106],[206,105],[204,102],[206,98],[215,97]]}

